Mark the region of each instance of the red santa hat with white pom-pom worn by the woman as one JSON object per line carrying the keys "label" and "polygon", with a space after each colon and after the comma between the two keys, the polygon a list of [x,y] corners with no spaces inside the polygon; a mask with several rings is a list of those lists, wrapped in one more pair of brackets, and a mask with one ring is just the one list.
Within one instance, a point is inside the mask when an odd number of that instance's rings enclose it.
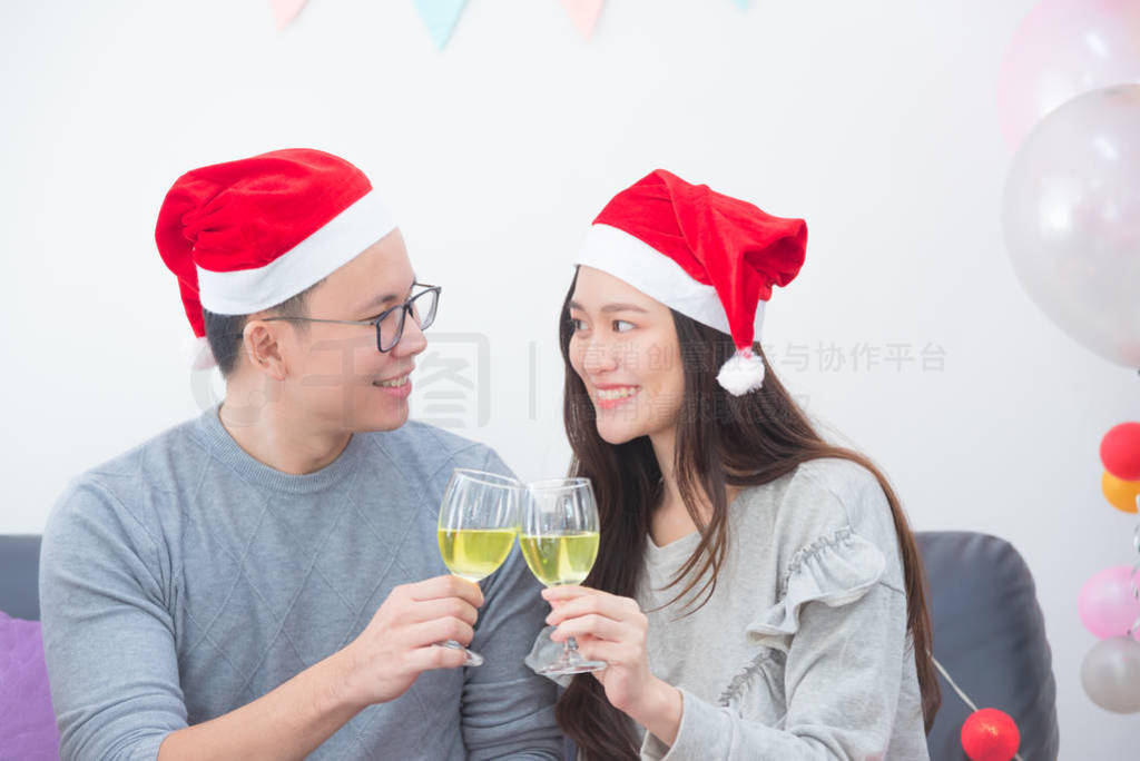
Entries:
{"label": "red santa hat with white pom-pom worn by the woman", "polygon": [[740,396],[764,383],[752,353],[772,286],[804,264],[807,224],[656,170],[594,220],[578,264],[609,272],[698,322],[730,334],[736,353],[717,380]]}

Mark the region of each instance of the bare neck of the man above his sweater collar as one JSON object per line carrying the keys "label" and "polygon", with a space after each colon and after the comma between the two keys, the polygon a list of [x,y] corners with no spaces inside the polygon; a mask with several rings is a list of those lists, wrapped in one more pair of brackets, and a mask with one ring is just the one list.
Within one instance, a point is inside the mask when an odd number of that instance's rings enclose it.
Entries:
{"label": "bare neck of the man above his sweater collar", "polygon": [[250,393],[233,383],[227,385],[218,417],[250,457],[292,475],[315,473],[332,464],[352,439],[343,431],[314,429],[280,399],[267,401],[263,390]]}

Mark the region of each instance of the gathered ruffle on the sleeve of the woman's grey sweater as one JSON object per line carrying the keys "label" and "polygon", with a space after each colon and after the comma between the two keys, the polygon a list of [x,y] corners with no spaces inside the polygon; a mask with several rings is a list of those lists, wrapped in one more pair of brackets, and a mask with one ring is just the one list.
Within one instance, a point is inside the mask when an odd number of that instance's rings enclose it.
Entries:
{"label": "gathered ruffle on the sleeve of the woman's grey sweater", "polygon": [[830,607],[849,605],[882,578],[887,556],[874,543],[845,526],[797,551],[777,590],[777,602],[762,612],[748,633],[784,653],[799,630],[800,609],[807,603]]}

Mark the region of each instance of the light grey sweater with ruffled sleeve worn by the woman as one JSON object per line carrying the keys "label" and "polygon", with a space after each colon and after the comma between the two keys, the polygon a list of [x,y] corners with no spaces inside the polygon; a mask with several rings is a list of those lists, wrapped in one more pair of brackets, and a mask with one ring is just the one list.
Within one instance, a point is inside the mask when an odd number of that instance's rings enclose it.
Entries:
{"label": "light grey sweater with ruffled sleeve worn by the woman", "polygon": [[684,709],[671,748],[646,734],[643,758],[929,758],[898,541],[869,470],[814,460],[746,489],[708,604],[651,612],[684,588],[663,589],[698,540],[649,542],[649,665]]}

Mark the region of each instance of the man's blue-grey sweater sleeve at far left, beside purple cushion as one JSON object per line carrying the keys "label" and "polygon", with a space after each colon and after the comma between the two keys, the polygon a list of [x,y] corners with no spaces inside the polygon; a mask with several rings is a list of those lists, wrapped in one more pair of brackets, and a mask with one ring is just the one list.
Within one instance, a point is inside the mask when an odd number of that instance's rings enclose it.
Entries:
{"label": "man's blue-grey sweater sleeve at far left, beside purple cushion", "polygon": [[169,578],[158,543],[91,476],[48,521],[40,556],[43,649],[68,759],[155,759],[186,727]]}

